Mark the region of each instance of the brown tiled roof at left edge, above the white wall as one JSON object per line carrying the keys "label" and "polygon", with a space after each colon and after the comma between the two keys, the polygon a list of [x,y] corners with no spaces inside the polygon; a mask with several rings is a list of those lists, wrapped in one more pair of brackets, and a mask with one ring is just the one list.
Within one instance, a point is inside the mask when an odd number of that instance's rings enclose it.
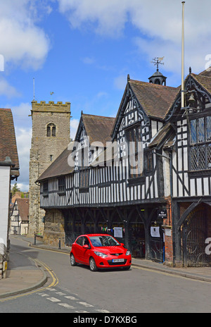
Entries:
{"label": "brown tiled roof at left edge, above the white wall", "polygon": [[[5,161],[6,156],[11,158],[14,168],[19,169],[18,150],[13,124],[11,109],[0,109],[0,161]],[[19,171],[13,171],[13,175],[19,175]]]}

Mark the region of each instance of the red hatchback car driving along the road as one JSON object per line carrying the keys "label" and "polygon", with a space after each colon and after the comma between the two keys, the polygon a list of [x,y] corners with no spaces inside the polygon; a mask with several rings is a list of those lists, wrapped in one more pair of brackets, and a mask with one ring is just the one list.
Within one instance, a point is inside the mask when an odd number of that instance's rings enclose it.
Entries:
{"label": "red hatchback car driving along the road", "polygon": [[72,244],[70,264],[87,264],[91,271],[103,268],[130,269],[132,256],[123,243],[106,234],[87,234]]}

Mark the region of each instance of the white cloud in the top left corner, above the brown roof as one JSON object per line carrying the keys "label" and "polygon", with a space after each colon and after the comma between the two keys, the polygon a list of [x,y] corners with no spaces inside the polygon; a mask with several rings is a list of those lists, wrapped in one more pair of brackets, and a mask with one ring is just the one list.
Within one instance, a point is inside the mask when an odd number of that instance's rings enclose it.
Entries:
{"label": "white cloud in the top left corner, above the brown roof", "polygon": [[[41,67],[50,42],[44,30],[36,25],[38,1],[0,0],[0,5],[0,54],[5,63],[15,63],[23,68]],[[46,8],[47,13],[49,8]]]}

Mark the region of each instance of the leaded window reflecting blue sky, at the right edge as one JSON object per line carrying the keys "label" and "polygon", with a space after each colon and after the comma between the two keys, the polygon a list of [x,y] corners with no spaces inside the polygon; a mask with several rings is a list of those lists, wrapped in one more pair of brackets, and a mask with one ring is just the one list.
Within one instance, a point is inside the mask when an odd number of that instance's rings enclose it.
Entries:
{"label": "leaded window reflecting blue sky, at the right edge", "polygon": [[191,120],[190,170],[211,169],[211,116]]}

